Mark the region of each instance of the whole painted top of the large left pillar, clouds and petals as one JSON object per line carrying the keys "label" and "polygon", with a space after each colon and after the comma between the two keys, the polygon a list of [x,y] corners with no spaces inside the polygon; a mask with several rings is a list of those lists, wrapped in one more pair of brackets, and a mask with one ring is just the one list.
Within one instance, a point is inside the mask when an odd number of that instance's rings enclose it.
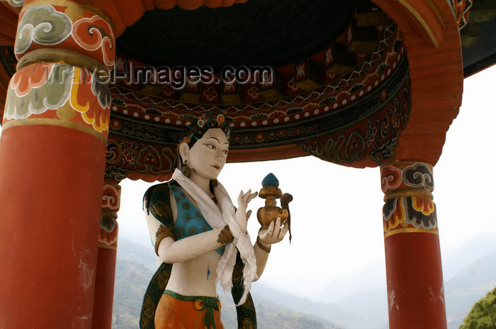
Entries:
{"label": "whole painted top of the large left pillar, clouds and petals", "polygon": [[115,38],[105,14],[75,1],[26,1],[14,52],[2,128],[63,126],[106,145]]}

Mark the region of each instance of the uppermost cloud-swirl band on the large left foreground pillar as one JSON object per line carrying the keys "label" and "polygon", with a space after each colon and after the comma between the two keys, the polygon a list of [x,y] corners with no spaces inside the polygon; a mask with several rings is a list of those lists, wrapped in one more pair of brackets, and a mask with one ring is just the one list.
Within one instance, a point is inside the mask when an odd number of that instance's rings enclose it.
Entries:
{"label": "uppermost cloud-swirl band on the large left foreground pillar", "polygon": [[113,24],[98,9],[74,1],[30,1],[19,14],[14,53],[18,69],[35,62],[111,69]]}

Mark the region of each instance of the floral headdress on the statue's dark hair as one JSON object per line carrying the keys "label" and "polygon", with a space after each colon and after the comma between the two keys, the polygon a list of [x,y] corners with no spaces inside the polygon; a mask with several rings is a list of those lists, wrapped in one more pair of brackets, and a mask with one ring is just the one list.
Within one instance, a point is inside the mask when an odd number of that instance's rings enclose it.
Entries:
{"label": "floral headdress on the statue's dark hair", "polygon": [[193,123],[188,126],[184,142],[190,143],[191,140],[199,140],[210,128],[220,128],[229,140],[231,137],[230,121],[232,121],[231,118],[220,112],[206,111],[201,118],[193,119]]}

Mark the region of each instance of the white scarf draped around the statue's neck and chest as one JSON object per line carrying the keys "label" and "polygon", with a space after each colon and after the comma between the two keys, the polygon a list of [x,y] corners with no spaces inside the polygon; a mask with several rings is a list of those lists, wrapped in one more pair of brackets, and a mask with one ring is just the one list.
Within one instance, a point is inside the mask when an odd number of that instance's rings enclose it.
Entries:
{"label": "white scarf draped around the statue's neck and chest", "polygon": [[235,218],[236,208],[232,204],[229,194],[227,194],[224,186],[220,183],[214,187],[213,192],[215,198],[217,198],[218,207],[205,191],[200,189],[200,187],[191,181],[191,179],[184,176],[179,169],[174,171],[172,178],[176,180],[184,191],[195,199],[205,221],[207,221],[212,228],[224,228],[225,225],[229,225],[234,240],[227,244],[224,255],[220,258],[217,267],[217,278],[220,281],[222,289],[227,291],[232,289],[232,269],[234,269],[236,263],[236,249],[239,250],[239,255],[241,255],[241,259],[244,263],[244,293],[237,305],[242,305],[247,299],[249,290],[252,288],[252,281],[258,278],[257,261],[253,250],[252,240],[250,240],[247,233],[241,231],[237,224]]}

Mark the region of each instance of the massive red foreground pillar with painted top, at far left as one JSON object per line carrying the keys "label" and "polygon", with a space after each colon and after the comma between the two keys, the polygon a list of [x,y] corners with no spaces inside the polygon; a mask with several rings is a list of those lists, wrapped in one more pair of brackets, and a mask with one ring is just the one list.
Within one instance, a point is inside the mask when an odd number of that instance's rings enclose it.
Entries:
{"label": "massive red foreground pillar with painted top, at far left", "polygon": [[115,48],[97,12],[21,11],[0,138],[0,328],[91,328],[110,115],[91,68]]}

